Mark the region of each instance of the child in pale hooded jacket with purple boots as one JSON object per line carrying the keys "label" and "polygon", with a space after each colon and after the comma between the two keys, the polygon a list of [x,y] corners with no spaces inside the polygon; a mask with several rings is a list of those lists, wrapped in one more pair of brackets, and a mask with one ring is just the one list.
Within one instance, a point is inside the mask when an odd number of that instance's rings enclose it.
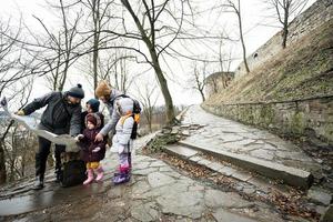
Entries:
{"label": "child in pale hooded jacket with purple boots", "polygon": [[124,183],[131,179],[131,149],[133,147],[132,130],[134,127],[133,100],[121,98],[115,103],[118,114],[121,117],[115,125],[112,145],[118,151],[119,169],[114,173],[113,183]]}

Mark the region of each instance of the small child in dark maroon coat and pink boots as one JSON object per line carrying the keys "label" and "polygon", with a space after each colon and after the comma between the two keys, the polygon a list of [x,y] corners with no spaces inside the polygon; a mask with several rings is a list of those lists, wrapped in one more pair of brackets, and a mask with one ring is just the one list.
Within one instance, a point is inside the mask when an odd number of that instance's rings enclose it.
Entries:
{"label": "small child in dark maroon coat and pink boots", "polygon": [[103,179],[104,171],[100,161],[105,157],[107,139],[95,142],[95,135],[103,127],[101,124],[101,113],[89,113],[85,117],[87,129],[83,131],[83,134],[77,137],[79,145],[81,147],[81,159],[87,163],[88,179],[83,182],[84,185],[94,180],[94,171],[97,173],[97,182]]}

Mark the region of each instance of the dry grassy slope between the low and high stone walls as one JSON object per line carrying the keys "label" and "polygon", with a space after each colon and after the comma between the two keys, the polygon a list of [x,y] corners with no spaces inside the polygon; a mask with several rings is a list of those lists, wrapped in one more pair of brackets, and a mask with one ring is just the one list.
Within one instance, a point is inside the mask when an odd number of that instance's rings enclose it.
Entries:
{"label": "dry grassy slope between the low and high stone walls", "polygon": [[226,90],[210,104],[286,101],[333,95],[333,21],[287,46]]}

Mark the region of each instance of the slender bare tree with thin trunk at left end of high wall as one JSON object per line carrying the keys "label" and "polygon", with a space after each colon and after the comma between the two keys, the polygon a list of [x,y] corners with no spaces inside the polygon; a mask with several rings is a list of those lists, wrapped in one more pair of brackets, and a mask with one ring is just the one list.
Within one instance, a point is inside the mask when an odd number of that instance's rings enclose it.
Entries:
{"label": "slender bare tree with thin trunk at left end of high wall", "polygon": [[241,1],[240,0],[226,0],[224,7],[231,9],[232,12],[234,12],[238,17],[238,22],[239,22],[239,31],[240,31],[240,39],[241,39],[241,44],[242,44],[242,50],[243,50],[243,62],[246,72],[250,72],[248,60],[246,60],[246,48],[245,48],[245,42],[244,42],[244,34],[243,34],[243,24],[242,24],[242,13],[241,13]]}

